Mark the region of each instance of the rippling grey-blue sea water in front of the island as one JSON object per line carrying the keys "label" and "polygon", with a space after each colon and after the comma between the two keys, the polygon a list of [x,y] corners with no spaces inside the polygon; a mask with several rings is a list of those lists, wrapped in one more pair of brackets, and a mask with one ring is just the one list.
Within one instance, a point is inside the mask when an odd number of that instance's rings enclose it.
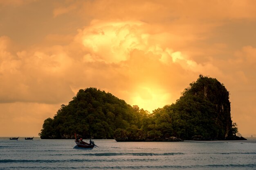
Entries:
{"label": "rippling grey-blue sea water in front of the island", "polygon": [[71,139],[0,138],[0,169],[256,170],[256,140],[94,142],[99,148],[78,148]]}

